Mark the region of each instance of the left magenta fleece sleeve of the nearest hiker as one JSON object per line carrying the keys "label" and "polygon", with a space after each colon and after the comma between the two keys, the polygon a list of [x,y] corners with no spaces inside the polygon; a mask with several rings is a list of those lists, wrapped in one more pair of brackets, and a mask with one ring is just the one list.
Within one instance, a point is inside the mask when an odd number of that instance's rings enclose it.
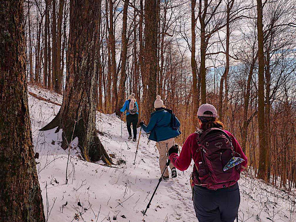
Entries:
{"label": "left magenta fleece sleeve of the nearest hiker", "polygon": [[187,170],[192,159],[191,154],[191,146],[192,146],[192,139],[195,138],[194,133],[187,137],[186,141],[182,146],[182,150],[180,156],[177,153],[172,153],[170,155],[170,161],[173,165],[181,171]]}

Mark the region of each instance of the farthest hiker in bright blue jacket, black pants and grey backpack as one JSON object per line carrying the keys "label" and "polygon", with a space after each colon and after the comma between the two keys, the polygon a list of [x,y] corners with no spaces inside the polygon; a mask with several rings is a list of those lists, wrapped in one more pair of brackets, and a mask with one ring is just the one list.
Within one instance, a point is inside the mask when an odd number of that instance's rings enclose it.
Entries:
{"label": "farthest hiker in bright blue jacket, black pants and grey backpack", "polygon": [[[127,110],[127,111],[126,111]],[[126,111],[126,127],[128,128],[128,139],[131,139],[131,124],[133,124],[133,141],[137,141],[137,124],[139,118],[139,106],[135,99],[135,94],[128,96],[120,112]]]}

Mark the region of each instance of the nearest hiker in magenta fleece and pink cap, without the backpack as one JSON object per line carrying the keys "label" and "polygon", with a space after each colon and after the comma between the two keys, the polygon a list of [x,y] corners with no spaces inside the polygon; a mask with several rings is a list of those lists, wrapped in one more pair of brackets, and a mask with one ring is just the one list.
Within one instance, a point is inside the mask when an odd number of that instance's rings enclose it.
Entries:
{"label": "nearest hiker in magenta fleece and pink cap, without the backpack", "polygon": [[[224,127],[223,123],[218,120],[219,116],[217,115],[216,108],[210,104],[203,104],[199,108],[197,115],[201,132],[209,128],[223,129]],[[237,152],[244,159],[244,162],[240,166],[240,170],[243,171],[247,167],[247,157],[244,155],[242,148],[234,136],[226,130],[224,132],[232,140],[234,152]],[[174,149],[174,147],[170,148],[168,151],[170,161],[177,169],[183,171],[188,169],[193,159],[196,166],[193,168],[193,171],[198,175],[197,169],[199,169],[199,165],[202,163],[200,153],[202,151],[200,149],[197,150],[198,147],[197,133],[192,133],[183,144],[180,155],[178,155],[178,150]],[[194,181],[196,182],[198,180]],[[192,184],[193,205],[199,222],[233,222],[235,220],[238,215],[240,193],[238,183],[235,181],[234,183],[231,186],[221,189],[208,189],[198,184],[198,182]]]}

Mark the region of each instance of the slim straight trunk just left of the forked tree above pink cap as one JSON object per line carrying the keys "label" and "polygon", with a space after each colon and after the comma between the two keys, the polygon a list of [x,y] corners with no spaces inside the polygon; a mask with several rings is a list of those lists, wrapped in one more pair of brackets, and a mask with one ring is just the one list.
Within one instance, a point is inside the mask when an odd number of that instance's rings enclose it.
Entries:
{"label": "slim straight trunk just left of the forked tree above pink cap", "polygon": [[196,67],[196,60],[195,60],[195,4],[196,0],[191,1],[191,69],[192,69],[192,100],[193,100],[193,115],[192,115],[192,132],[195,131],[197,127],[197,110],[199,106],[199,95],[197,93],[197,67]]}

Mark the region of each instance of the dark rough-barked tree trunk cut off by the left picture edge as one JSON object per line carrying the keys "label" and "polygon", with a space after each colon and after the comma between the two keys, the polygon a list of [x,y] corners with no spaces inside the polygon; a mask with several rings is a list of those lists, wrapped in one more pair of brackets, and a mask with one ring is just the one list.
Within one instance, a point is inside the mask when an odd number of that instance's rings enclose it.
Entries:
{"label": "dark rough-barked tree trunk cut off by the left picture edge", "polygon": [[45,221],[28,109],[23,1],[1,1],[0,8],[1,221]]}

